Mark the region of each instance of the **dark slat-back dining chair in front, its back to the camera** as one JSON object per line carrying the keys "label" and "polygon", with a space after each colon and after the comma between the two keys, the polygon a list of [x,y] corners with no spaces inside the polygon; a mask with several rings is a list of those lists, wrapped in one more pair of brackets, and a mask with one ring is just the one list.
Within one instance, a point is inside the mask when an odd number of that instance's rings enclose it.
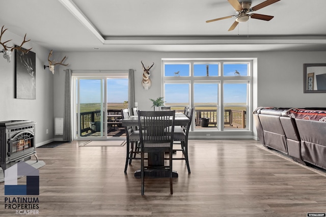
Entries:
{"label": "dark slat-back dining chair in front, its back to the camera", "polygon": [[[157,169],[169,169],[170,194],[172,187],[172,148],[174,132],[175,110],[173,111],[139,111],[138,124],[140,128],[141,146],[141,194],[144,195],[145,170],[150,172]],[[172,133],[169,133],[172,132]],[[150,168],[145,166],[145,153],[169,153],[169,165]],[[164,157],[163,157],[164,158]]]}

